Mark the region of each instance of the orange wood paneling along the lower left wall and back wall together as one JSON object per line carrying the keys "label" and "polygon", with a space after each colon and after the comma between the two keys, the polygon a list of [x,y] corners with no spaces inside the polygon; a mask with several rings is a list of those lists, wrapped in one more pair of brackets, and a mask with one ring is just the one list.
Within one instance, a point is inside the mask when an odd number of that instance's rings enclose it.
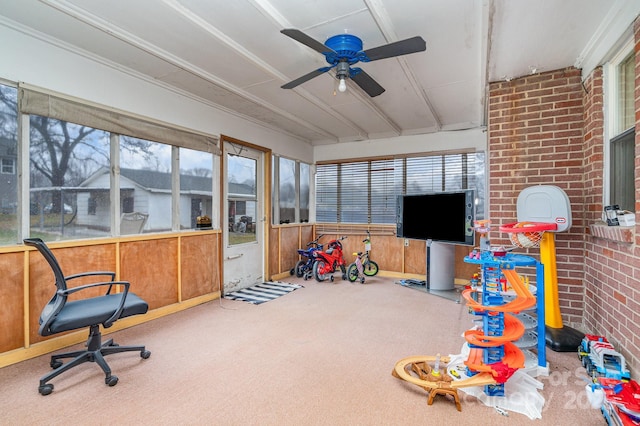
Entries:
{"label": "orange wood paneling along the lower left wall and back wall together", "polygon": [[[371,259],[380,275],[424,279],[426,244],[395,235],[392,225],[283,224],[269,228],[267,276],[284,280],[316,235],[326,244],[342,241],[347,263],[362,251],[366,230],[371,232]],[[65,274],[115,271],[116,279],[129,281],[131,291],[149,303],[146,315],[117,321],[105,334],[151,321],[220,298],[222,282],[222,233],[220,230],[135,235],[103,240],[72,240],[49,243]],[[464,263],[471,247],[456,247],[456,282],[469,280],[475,266]],[[84,342],[87,331],[55,337],[38,335],[38,318],[49,301],[54,278],[44,258],[26,246],[0,248],[0,367]],[[86,282],[78,280],[75,285]],[[86,294],[85,294],[86,296]]]}

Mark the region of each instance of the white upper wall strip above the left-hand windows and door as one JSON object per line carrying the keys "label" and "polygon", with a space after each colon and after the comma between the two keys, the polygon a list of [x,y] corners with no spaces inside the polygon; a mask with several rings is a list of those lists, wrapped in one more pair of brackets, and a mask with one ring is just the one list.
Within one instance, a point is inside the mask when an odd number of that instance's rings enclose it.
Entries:
{"label": "white upper wall strip above the left-hand windows and door", "polygon": [[240,117],[170,91],[77,49],[54,45],[0,22],[0,79],[27,83],[211,135],[225,134],[311,163],[313,148]]}

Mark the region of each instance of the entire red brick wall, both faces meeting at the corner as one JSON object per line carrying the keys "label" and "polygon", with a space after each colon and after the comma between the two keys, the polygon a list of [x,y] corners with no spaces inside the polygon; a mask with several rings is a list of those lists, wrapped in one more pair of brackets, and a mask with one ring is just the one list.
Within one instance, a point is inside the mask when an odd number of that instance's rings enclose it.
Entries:
{"label": "entire red brick wall, both faces meeting at the corner", "polygon": [[[640,19],[636,20],[636,212],[640,212]],[[604,335],[640,374],[640,214],[632,243],[594,238],[604,198],[603,72],[584,82],[568,68],[490,85],[489,217],[516,220],[523,188],[557,185],[569,195],[573,225],[556,234],[564,323]],[[492,243],[509,244],[495,232]],[[529,255],[537,256],[531,249]]]}

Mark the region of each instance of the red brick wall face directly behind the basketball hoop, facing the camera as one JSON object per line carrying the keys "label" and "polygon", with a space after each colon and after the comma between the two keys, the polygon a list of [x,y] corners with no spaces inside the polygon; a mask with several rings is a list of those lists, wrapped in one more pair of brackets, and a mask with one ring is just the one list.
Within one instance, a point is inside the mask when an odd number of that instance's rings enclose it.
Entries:
{"label": "red brick wall face directly behind the basketball hoop, facing the camera", "polygon": [[[517,220],[525,188],[556,185],[571,202],[572,227],[555,235],[560,310],[580,328],[584,310],[584,89],[580,70],[563,70],[492,83],[489,88],[489,218]],[[499,231],[492,244],[507,244]],[[538,249],[519,252],[538,256]]]}

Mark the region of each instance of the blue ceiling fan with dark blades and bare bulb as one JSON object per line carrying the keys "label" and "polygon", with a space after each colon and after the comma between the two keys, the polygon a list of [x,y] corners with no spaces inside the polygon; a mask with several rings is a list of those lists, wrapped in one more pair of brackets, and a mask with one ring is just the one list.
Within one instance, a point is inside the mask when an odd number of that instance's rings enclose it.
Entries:
{"label": "blue ceiling fan with dark blades and bare bulb", "polygon": [[352,67],[352,65],[358,62],[371,62],[379,59],[392,58],[394,56],[407,55],[409,53],[422,52],[427,48],[425,41],[420,36],[363,51],[362,40],[351,34],[338,34],[329,37],[327,41],[322,44],[300,30],[284,29],[280,32],[322,53],[329,63],[327,67],[318,68],[281,86],[283,89],[293,89],[335,67],[336,78],[340,80],[340,84],[338,85],[339,91],[344,92],[347,89],[345,80],[350,78],[369,96],[378,96],[384,92],[384,88],[369,74],[364,72],[362,68]]}

